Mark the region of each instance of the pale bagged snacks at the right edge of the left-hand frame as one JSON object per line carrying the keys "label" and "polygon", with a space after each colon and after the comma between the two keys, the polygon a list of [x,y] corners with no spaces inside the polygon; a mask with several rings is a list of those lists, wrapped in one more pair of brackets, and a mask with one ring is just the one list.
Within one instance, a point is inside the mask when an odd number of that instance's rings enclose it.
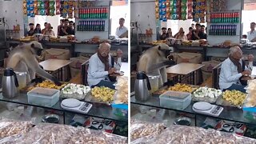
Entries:
{"label": "pale bagged snacks at the right edge of the left-hand frame", "polygon": [[117,82],[114,103],[128,103],[128,77],[118,77]]}

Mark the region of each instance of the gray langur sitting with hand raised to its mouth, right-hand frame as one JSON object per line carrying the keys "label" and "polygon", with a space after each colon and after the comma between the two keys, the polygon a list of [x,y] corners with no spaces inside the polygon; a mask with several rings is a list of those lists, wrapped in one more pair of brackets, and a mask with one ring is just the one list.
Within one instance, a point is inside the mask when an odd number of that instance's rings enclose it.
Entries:
{"label": "gray langur sitting with hand raised to its mouth, right-hand frame", "polygon": [[164,43],[146,50],[138,60],[138,71],[159,75],[159,86],[163,86],[167,82],[166,66],[175,64],[168,59],[172,50]]}

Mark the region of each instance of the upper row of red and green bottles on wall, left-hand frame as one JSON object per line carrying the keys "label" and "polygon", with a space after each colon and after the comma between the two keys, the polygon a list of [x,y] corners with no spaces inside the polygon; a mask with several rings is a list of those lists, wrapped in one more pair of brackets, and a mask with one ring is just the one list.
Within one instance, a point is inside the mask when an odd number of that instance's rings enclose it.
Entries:
{"label": "upper row of red and green bottles on wall, left-hand frame", "polygon": [[107,18],[107,8],[90,8],[90,9],[79,9],[78,17],[82,19],[86,18]]}

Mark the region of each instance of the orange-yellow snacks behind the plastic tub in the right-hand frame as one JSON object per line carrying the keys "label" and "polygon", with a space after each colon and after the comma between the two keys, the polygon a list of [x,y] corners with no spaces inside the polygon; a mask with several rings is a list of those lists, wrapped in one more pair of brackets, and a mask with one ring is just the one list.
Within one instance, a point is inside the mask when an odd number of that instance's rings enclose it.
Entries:
{"label": "orange-yellow snacks behind the plastic tub in the right-hand frame", "polygon": [[199,86],[177,83],[174,86],[164,86],[161,89],[154,92],[154,94],[163,94],[168,90],[193,93],[194,90],[197,90],[198,88],[199,88]]}

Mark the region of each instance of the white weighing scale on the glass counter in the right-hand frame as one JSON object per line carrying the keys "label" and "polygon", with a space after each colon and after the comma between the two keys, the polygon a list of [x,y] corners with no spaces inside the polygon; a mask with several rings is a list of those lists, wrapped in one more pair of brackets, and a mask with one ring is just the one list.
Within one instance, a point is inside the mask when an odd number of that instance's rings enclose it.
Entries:
{"label": "white weighing scale on the glass counter in the right-hand frame", "polygon": [[222,113],[223,107],[212,105],[208,102],[196,102],[192,109],[199,114],[207,114],[210,116],[218,117]]}

